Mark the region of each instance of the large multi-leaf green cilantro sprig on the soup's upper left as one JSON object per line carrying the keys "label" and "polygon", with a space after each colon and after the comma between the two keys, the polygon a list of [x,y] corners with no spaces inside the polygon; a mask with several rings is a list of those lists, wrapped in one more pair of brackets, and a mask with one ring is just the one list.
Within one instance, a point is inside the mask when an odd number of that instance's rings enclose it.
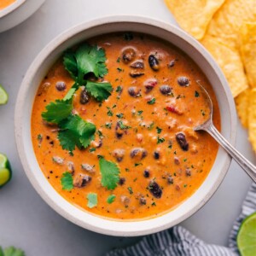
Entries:
{"label": "large multi-leaf green cilantro sprig on the soup's upper left", "polygon": [[49,102],[46,111],[42,113],[45,121],[59,126],[58,139],[63,149],[73,152],[76,146],[79,149],[87,148],[95,138],[96,126],[81,119],[79,115],[73,115],[73,96],[80,86],[85,86],[96,101],[108,99],[113,90],[111,84],[86,79],[91,73],[96,79],[107,74],[105,61],[104,49],[96,45],[82,44],[78,49],[69,49],[64,53],[63,64],[74,79],[74,84],[62,100]]}

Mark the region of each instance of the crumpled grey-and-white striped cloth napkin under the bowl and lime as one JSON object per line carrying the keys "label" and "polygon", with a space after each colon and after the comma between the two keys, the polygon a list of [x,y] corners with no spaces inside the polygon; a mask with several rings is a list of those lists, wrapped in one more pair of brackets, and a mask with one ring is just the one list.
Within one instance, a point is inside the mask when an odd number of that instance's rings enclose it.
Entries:
{"label": "crumpled grey-and-white striped cloth napkin under the bowl and lime", "polygon": [[242,204],[241,214],[230,232],[229,247],[207,244],[183,227],[175,226],[170,230],[145,236],[134,246],[114,249],[106,256],[237,256],[239,255],[236,246],[237,231],[241,221],[255,211],[256,184],[253,183]]}

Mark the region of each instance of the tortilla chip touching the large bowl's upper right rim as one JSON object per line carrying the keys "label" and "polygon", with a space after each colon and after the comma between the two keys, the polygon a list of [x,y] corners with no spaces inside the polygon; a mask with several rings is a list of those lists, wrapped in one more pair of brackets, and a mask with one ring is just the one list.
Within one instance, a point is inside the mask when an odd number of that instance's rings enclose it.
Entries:
{"label": "tortilla chip touching the large bowl's upper right rim", "polygon": [[209,36],[203,38],[201,44],[209,50],[219,67],[221,67],[230,84],[232,95],[236,97],[243,90],[246,90],[248,87],[247,78],[238,50],[230,49],[228,46],[220,44],[216,38]]}

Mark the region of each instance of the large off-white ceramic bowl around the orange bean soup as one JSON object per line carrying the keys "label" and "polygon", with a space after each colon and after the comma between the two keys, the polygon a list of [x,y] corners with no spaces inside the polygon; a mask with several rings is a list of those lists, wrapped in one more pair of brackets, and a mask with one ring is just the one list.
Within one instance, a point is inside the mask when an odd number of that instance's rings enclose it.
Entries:
{"label": "large off-white ceramic bowl around the orange bean soup", "polygon": [[218,65],[212,60],[206,49],[194,38],[183,32],[177,26],[166,24],[159,20],[145,17],[112,16],[99,20],[85,22],[74,26],[67,32],[49,43],[32,62],[20,86],[15,108],[15,136],[20,160],[26,175],[33,187],[38,191],[50,207],[63,217],[88,230],[112,236],[141,236],[165,230],[189,218],[200,209],[218,189],[219,184],[230,166],[230,157],[222,148],[207,179],[194,195],[184,201],[179,207],[157,218],[141,221],[114,221],[85,212],[66,201],[49,184],[38,166],[33,152],[31,139],[32,103],[38,90],[38,84],[48,72],[49,67],[61,56],[62,52],[87,38],[108,32],[143,32],[176,45],[189,55],[211,82],[221,113],[221,133],[230,143],[234,144],[236,136],[236,110],[229,86]]}

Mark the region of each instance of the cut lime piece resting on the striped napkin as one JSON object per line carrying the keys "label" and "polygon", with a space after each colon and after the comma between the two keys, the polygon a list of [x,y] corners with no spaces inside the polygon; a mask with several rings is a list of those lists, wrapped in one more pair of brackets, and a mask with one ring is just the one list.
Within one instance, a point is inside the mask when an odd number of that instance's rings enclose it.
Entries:
{"label": "cut lime piece resting on the striped napkin", "polygon": [[241,256],[256,255],[256,212],[243,220],[236,241]]}

